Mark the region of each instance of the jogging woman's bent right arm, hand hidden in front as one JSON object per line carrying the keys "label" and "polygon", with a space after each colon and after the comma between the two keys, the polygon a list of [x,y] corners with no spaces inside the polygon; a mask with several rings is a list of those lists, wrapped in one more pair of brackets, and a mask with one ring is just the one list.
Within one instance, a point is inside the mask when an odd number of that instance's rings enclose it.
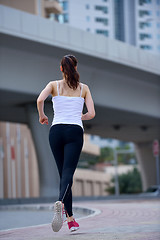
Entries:
{"label": "jogging woman's bent right arm, hand hidden in front", "polygon": [[86,86],[85,103],[86,103],[88,112],[85,114],[82,114],[81,119],[82,120],[90,120],[95,117],[96,113],[95,113],[94,103],[93,103],[93,99],[92,99],[89,87],[87,85],[85,85],[85,86]]}

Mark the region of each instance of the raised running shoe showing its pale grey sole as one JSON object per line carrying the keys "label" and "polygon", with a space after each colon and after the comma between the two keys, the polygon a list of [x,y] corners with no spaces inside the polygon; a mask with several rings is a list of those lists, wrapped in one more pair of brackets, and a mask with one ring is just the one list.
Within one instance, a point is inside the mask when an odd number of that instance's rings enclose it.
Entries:
{"label": "raised running shoe showing its pale grey sole", "polygon": [[54,218],[52,221],[52,229],[54,232],[58,232],[63,225],[63,203],[57,201],[54,204]]}

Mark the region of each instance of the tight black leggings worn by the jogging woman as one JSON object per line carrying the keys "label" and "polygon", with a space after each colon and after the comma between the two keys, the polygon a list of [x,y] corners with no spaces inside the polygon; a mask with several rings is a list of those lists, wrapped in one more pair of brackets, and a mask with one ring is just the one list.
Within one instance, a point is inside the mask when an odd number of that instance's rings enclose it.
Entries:
{"label": "tight black leggings worn by the jogging woman", "polygon": [[49,143],[55,158],[59,176],[59,201],[62,201],[69,217],[72,212],[72,183],[83,147],[83,129],[77,124],[55,124],[49,131]]}

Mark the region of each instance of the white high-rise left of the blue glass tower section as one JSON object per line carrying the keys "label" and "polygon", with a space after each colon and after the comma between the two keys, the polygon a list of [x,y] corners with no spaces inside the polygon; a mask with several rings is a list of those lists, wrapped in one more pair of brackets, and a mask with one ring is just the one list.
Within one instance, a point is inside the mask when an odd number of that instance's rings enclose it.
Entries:
{"label": "white high-rise left of the blue glass tower section", "polygon": [[113,9],[109,0],[59,0],[62,14],[50,18],[73,27],[113,38]]}

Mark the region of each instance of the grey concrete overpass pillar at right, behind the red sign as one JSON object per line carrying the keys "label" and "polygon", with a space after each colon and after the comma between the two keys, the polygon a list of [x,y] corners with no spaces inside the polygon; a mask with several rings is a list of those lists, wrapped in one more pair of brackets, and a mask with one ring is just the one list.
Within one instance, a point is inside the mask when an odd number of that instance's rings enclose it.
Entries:
{"label": "grey concrete overpass pillar at right, behind the red sign", "polygon": [[135,143],[135,151],[141,169],[144,191],[156,184],[156,160],[152,152],[152,142]]}

